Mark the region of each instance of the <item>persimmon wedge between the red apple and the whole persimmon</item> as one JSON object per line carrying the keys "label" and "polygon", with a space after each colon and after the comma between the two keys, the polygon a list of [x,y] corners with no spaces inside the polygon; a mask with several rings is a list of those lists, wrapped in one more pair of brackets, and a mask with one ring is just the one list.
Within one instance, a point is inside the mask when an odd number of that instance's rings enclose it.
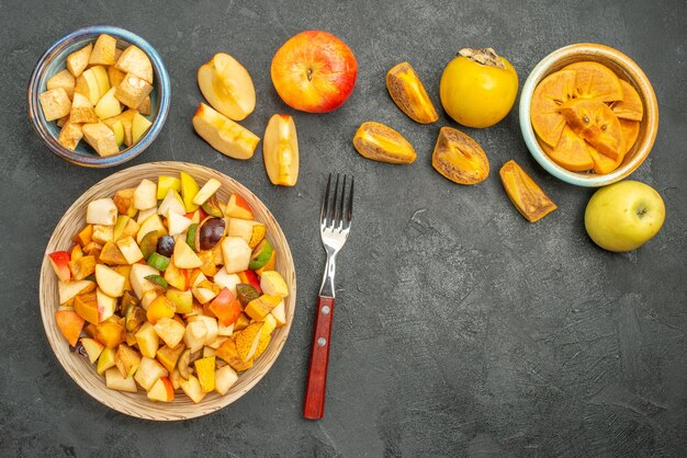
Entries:
{"label": "persimmon wedge between the red apple and the whole persimmon", "polygon": [[388,70],[386,89],[396,106],[410,119],[420,124],[439,119],[437,108],[410,64],[401,62]]}

